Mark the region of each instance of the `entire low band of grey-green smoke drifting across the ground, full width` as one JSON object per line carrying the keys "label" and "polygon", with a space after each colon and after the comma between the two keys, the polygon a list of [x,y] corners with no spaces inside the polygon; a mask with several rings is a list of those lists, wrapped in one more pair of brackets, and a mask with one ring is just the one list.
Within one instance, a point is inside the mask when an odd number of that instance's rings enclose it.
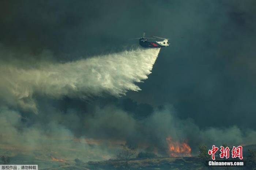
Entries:
{"label": "entire low band of grey-green smoke drifting across the ground, full width", "polygon": [[[79,158],[86,162],[115,158],[125,143],[138,151],[166,157],[167,137],[173,142],[187,142],[192,155],[197,155],[197,147],[202,144],[237,146],[256,141],[255,131],[237,126],[199,128],[192,119],[178,118],[170,105],[155,109],[146,119],[136,119],[114,105],[94,108],[82,117],[77,110],[63,113],[51,108],[51,112],[35,115],[37,119],[30,116],[24,120],[22,113],[1,107],[0,153],[32,154],[44,160]],[[75,135],[76,131],[82,131],[82,135]]]}

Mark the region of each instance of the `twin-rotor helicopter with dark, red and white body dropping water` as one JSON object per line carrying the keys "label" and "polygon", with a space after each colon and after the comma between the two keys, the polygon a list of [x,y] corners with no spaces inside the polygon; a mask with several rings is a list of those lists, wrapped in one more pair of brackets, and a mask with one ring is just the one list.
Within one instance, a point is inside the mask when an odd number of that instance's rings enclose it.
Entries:
{"label": "twin-rotor helicopter with dark, red and white body dropping water", "polygon": [[[154,38],[146,38],[145,37],[146,32],[143,32],[143,35],[141,38],[132,38],[132,39],[139,39],[139,44],[144,48],[161,48],[161,47],[167,47],[170,44],[168,43],[168,38],[161,38],[158,36],[152,36]],[[149,42],[147,39],[163,39],[162,41],[154,41]]]}

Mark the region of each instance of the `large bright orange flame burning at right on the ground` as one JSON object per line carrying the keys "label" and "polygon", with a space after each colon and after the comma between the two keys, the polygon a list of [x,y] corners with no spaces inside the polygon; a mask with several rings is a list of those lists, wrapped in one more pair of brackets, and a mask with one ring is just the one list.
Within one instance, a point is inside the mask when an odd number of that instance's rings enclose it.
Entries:
{"label": "large bright orange flame burning at right on the ground", "polygon": [[187,142],[173,142],[171,136],[166,138],[166,142],[168,144],[167,153],[170,157],[191,156],[191,147]]}

